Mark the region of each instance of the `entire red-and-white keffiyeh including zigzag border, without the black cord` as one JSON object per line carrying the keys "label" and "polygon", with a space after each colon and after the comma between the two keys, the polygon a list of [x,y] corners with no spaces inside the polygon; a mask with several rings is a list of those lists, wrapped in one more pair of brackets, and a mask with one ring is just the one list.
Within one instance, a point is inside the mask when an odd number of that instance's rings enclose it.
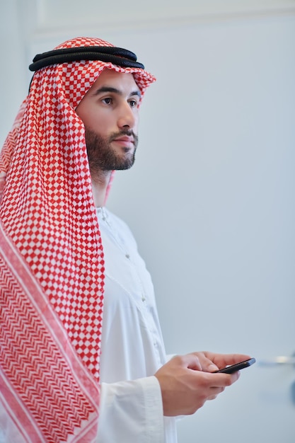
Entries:
{"label": "entire red-and-white keffiyeh including zigzag border, without the black cord", "polygon": [[[76,38],[56,49],[112,46]],[[99,60],[36,71],[0,157],[0,400],[20,442],[91,442],[97,432],[103,248],[76,106]],[[1,429],[1,422],[0,422]]]}

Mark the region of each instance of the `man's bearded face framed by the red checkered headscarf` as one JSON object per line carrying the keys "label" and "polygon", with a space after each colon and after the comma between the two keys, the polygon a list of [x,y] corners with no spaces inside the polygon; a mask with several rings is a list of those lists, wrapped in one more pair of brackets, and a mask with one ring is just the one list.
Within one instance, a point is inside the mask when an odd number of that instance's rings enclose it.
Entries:
{"label": "man's bearded face framed by the red checkered headscarf", "polygon": [[85,125],[91,174],[133,165],[139,99],[132,74],[105,69],[77,106]]}

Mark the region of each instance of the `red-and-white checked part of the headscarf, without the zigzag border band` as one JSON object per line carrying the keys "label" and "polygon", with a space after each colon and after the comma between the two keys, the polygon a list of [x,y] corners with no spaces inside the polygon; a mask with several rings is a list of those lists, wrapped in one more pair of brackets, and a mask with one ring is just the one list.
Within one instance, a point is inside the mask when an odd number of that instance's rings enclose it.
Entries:
{"label": "red-and-white checked part of the headscarf, without the zigzag border band", "polygon": [[[76,38],[56,49],[110,43]],[[36,71],[0,156],[1,222],[62,323],[69,342],[99,381],[104,260],[91,189],[83,123],[75,113],[110,62],[56,64]],[[42,341],[42,340],[41,340]]]}

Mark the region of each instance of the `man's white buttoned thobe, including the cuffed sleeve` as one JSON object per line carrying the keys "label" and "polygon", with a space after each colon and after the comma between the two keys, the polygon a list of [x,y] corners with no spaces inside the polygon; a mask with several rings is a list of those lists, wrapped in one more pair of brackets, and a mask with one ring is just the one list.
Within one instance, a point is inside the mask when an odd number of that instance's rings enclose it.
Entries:
{"label": "man's white buttoned thobe, including the cuffed sleeve", "polygon": [[175,443],[155,372],[167,360],[154,288],[127,225],[98,208],[105,254],[97,443]]}

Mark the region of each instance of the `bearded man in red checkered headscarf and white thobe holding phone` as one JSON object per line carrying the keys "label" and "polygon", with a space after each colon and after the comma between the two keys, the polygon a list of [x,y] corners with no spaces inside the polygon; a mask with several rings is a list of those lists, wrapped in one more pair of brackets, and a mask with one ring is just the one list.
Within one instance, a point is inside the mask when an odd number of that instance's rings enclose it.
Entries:
{"label": "bearded man in red checkered headscarf and white thobe holding phone", "polygon": [[176,442],[248,358],[168,360],[151,278],[105,208],[134,163],[155,79],[132,52],[76,38],[35,57],[1,152],[0,442]]}

